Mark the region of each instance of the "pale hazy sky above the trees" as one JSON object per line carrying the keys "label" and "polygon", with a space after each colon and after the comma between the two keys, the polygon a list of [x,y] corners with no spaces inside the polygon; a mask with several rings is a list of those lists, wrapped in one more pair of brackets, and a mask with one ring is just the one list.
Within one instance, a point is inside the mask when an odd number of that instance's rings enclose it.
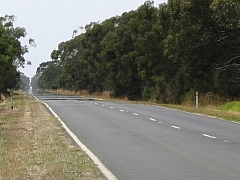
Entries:
{"label": "pale hazy sky above the trees", "polygon": [[[15,27],[24,27],[27,37],[33,38],[36,48],[25,55],[31,66],[20,69],[26,76],[35,75],[40,63],[51,60],[52,50],[71,39],[72,32],[90,22],[104,21],[124,12],[136,10],[145,0],[0,0],[0,16],[17,17]],[[155,0],[155,6],[167,0]]]}

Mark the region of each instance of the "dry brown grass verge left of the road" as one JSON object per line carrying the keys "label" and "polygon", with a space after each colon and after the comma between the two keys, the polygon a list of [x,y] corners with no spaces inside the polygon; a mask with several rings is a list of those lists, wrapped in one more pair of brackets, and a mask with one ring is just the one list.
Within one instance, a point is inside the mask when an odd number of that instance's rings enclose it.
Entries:
{"label": "dry brown grass verge left of the road", "polygon": [[0,105],[0,179],[104,179],[56,118],[30,95]]}

